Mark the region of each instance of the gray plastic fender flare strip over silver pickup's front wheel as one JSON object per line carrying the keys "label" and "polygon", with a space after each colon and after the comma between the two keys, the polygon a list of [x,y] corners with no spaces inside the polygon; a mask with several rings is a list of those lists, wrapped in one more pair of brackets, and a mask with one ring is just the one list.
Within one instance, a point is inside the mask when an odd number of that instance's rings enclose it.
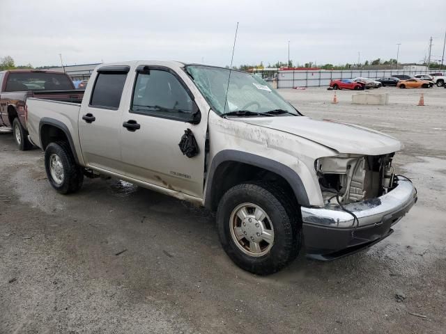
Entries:
{"label": "gray plastic fender flare strip over silver pickup's front wheel", "polygon": [[285,166],[275,160],[268,159],[266,157],[261,157],[256,154],[251,154],[243,151],[237,150],[223,150],[215,154],[215,157],[210,165],[209,173],[208,173],[208,181],[206,186],[206,198],[204,202],[204,206],[210,208],[212,206],[212,194],[214,185],[214,175],[215,170],[217,170],[218,166],[226,161],[236,161],[244,164],[256,166],[259,168],[263,168],[265,170],[270,170],[272,173],[276,173],[284,177],[286,182],[289,183],[291,189],[293,189],[295,198],[297,198],[300,205],[309,206],[309,200],[307,196],[307,191],[305,191],[305,186],[300,179],[300,176],[295,173],[294,170],[289,168],[289,166]]}

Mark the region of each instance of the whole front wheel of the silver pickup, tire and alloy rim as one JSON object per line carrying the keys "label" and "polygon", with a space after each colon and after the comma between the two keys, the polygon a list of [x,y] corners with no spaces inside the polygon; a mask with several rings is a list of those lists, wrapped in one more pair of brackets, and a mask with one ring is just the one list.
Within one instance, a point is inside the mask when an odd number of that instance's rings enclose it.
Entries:
{"label": "whole front wheel of the silver pickup, tire and alloy rim", "polygon": [[238,267],[268,275],[298,255],[302,224],[298,209],[273,184],[239,184],[226,191],[217,210],[220,242]]}

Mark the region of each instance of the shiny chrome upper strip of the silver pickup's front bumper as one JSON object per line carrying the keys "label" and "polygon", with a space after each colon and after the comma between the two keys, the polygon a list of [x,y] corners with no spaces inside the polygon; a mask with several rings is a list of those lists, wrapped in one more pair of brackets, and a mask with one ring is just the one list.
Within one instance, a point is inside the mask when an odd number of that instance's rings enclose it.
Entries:
{"label": "shiny chrome upper strip of the silver pickup's front bumper", "polygon": [[344,211],[339,205],[312,208],[302,207],[304,224],[320,225],[325,228],[362,228],[369,225],[379,225],[392,220],[396,223],[417,201],[417,190],[412,182],[400,178],[397,186],[383,196],[344,205]]}

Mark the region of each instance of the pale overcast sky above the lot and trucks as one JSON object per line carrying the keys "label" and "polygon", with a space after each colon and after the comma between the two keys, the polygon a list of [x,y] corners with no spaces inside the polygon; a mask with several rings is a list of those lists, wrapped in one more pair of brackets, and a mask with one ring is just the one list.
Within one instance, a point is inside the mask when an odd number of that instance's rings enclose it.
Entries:
{"label": "pale overcast sky above the lot and trucks", "polygon": [[422,61],[443,54],[445,0],[0,0],[0,57],[16,65],[178,60],[229,65],[287,61]]}

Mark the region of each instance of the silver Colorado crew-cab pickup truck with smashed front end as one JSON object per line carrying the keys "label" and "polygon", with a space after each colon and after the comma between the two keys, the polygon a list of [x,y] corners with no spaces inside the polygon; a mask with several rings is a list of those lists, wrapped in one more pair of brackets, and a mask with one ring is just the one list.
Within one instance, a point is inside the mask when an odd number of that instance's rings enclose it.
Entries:
{"label": "silver Colorado crew-cab pickup truck with smashed front end", "polygon": [[208,65],[98,66],[81,104],[29,99],[31,141],[60,193],[107,175],[217,211],[222,247],[266,275],[389,236],[417,200],[397,139],[303,116],[257,76]]}

